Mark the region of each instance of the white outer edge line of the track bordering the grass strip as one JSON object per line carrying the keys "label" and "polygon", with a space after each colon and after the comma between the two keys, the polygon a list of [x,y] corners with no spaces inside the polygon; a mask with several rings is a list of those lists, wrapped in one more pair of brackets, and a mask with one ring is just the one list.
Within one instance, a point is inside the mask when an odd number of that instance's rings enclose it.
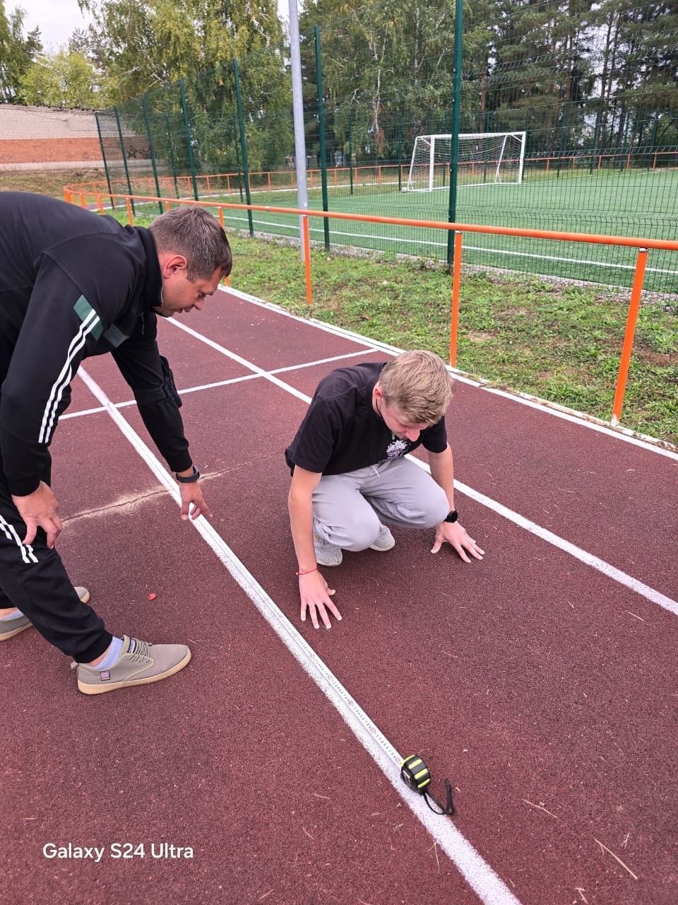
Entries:
{"label": "white outer edge line of the track bordering the grass strip", "polygon": [[[378,339],[368,339],[366,337],[363,337],[360,333],[354,333],[353,330],[347,330],[343,327],[334,327],[333,324],[325,324],[321,320],[315,320],[313,318],[302,318],[297,314],[291,314],[289,311],[280,308],[278,305],[274,305],[269,301],[262,301],[256,296],[250,295],[247,292],[235,290],[231,287],[229,287],[228,290],[222,288],[222,291],[228,291],[231,295],[235,296],[241,301],[247,301],[251,305],[256,305],[259,308],[269,310],[272,313],[277,314],[279,317],[291,318],[293,320],[297,320],[301,324],[306,324],[306,327],[314,327],[315,329],[323,330],[325,333],[332,333],[334,336],[342,337],[344,339],[352,339],[353,342],[361,343],[364,346],[370,346],[372,347],[372,349],[385,352],[387,355],[400,355],[400,352],[403,351],[397,346],[391,346],[389,345],[389,343],[380,342]],[[659,446],[654,437],[646,437],[644,439],[642,434],[638,435],[634,431],[629,430],[629,428],[627,427],[618,426],[616,428],[612,428],[605,421],[602,421],[599,418],[595,418],[593,415],[584,414],[583,412],[577,412],[565,405],[557,405],[556,403],[551,403],[547,399],[540,399],[539,396],[530,395],[529,393],[509,393],[506,390],[500,390],[494,386],[488,386],[485,381],[474,380],[472,377],[466,376],[463,371],[457,370],[456,367],[448,367],[448,370],[454,376],[455,380],[459,381],[459,383],[468,384],[468,386],[476,386],[478,389],[485,390],[486,393],[501,395],[504,397],[504,399],[508,399],[510,402],[519,403],[520,405],[527,405],[529,408],[539,409],[539,411],[543,412],[544,414],[551,414],[553,415],[553,417],[561,418],[563,421],[570,421],[572,424],[578,424],[579,427],[588,427],[589,430],[597,431],[598,433],[604,433],[608,437],[612,437],[615,440],[621,440],[624,443],[631,443],[631,445],[640,446],[643,449],[648,450],[648,452],[656,452],[659,455],[664,455],[669,459],[678,461],[678,452],[670,449],[664,449],[664,447]]]}

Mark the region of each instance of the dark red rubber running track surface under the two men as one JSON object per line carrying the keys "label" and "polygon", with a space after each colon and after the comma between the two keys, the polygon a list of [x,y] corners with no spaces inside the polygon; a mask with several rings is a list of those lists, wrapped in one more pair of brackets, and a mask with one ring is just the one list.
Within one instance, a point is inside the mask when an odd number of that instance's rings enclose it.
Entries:
{"label": "dark red rubber running track surface under the two men", "polygon": [[[391,552],[325,569],[344,619],[315,631],[283,450],[321,376],[389,353],[237,292],[180,323],[161,350],[220,555],[80,378],[52,452],[74,583],[113,632],[193,661],[90,698],[34,631],[2,645],[0,900],[674,905],[678,456],[459,380],[457,508],[485,560],[395,529]],[[112,360],[85,370],[149,442]],[[394,752],[425,758],[438,799],[450,777],[452,820]]]}

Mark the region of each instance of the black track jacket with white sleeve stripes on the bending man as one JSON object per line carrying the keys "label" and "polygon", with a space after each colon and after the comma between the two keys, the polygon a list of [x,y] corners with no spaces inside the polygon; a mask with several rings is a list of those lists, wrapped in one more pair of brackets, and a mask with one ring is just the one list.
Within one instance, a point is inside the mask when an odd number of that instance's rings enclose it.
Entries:
{"label": "black track jacket with white sleeve stripes on the bending man", "polygon": [[11,493],[37,489],[80,361],[104,352],[169,467],[190,468],[181,400],[155,340],[161,289],[147,230],[0,192],[0,454]]}

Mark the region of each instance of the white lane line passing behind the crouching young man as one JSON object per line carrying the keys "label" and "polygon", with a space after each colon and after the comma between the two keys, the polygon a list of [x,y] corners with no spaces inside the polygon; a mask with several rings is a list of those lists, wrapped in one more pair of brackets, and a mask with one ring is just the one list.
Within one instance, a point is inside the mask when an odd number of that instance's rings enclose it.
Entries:
{"label": "white lane line passing behind the crouching young man", "polygon": [[[168,320],[167,323],[174,324],[175,327],[185,330],[191,336],[196,339],[200,339],[201,342],[207,343],[209,346],[212,346],[212,348],[221,349],[225,355],[231,357],[231,353],[227,349],[223,349],[217,343],[212,342],[212,339],[203,337],[202,334],[196,332],[195,330],[185,327],[184,324],[179,323],[179,321],[172,319]],[[240,358],[241,363],[244,361],[244,358]],[[284,383],[282,380],[278,380],[278,378],[273,378],[273,380],[276,386],[279,386],[281,389],[286,390],[288,393],[297,396],[297,399],[301,399],[303,402],[310,403],[311,397],[309,395],[300,393],[299,390],[297,390],[294,386],[289,386],[289,384]],[[428,471],[428,464],[426,462],[421,462],[419,459],[413,456],[411,456],[410,458],[413,462],[416,462],[419,467],[423,468],[425,471]],[[606,575],[608,578],[612,578],[613,581],[617,581],[618,584],[630,588],[632,591],[635,591],[636,594],[645,597],[645,599],[649,600],[651,603],[663,606],[664,609],[668,610],[670,613],[678,615],[678,602],[672,600],[671,597],[667,597],[666,595],[661,594],[659,591],[655,591],[654,588],[645,585],[642,581],[638,581],[637,578],[626,575],[626,572],[622,572],[621,569],[612,566],[604,559],[593,556],[593,554],[588,553],[586,550],[575,546],[575,544],[570,544],[569,540],[560,538],[557,534],[553,534],[551,531],[545,528],[541,528],[541,526],[537,525],[536,522],[530,521],[530,519],[525,519],[524,516],[520,515],[518,512],[514,512],[513,510],[508,509],[506,506],[503,506],[502,503],[493,500],[491,497],[486,497],[484,493],[479,493],[478,491],[473,490],[473,488],[468,487],[466,484],[463,484],[460,481],[455,481],[455,489],[458,489],[461,493],[464,493],[465,496],[470,497],[472,500],[476,500],[476,502],[481,503],[487,509],[493,510],[498,515],[503,516],[504,519],[513,521],[513,524],[518,525],[520,528],[523,528],[526,531],[530,531],[532,534],[535,534],[537,537],[545,540],[547,543],[552,544],[554,547],[563,550],[565,553],[569,553],[571,557],[579,559],[579,562],[585,563],[587,566],[597,569],[598,572],[602,572],[603,575]]]}

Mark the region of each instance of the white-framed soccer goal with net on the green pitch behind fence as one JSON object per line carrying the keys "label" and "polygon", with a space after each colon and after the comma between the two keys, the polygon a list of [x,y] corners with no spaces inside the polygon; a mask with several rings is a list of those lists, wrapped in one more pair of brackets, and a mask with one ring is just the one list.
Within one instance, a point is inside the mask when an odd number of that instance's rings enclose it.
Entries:
{"label": "white-framed soccer goal with net on the green pitch behind fence", "polygon": [[[403,192],[432,192],[449,186],[451,135],[418,135]],[[459,135],[457,186],[523,182],[524,132]]]}

